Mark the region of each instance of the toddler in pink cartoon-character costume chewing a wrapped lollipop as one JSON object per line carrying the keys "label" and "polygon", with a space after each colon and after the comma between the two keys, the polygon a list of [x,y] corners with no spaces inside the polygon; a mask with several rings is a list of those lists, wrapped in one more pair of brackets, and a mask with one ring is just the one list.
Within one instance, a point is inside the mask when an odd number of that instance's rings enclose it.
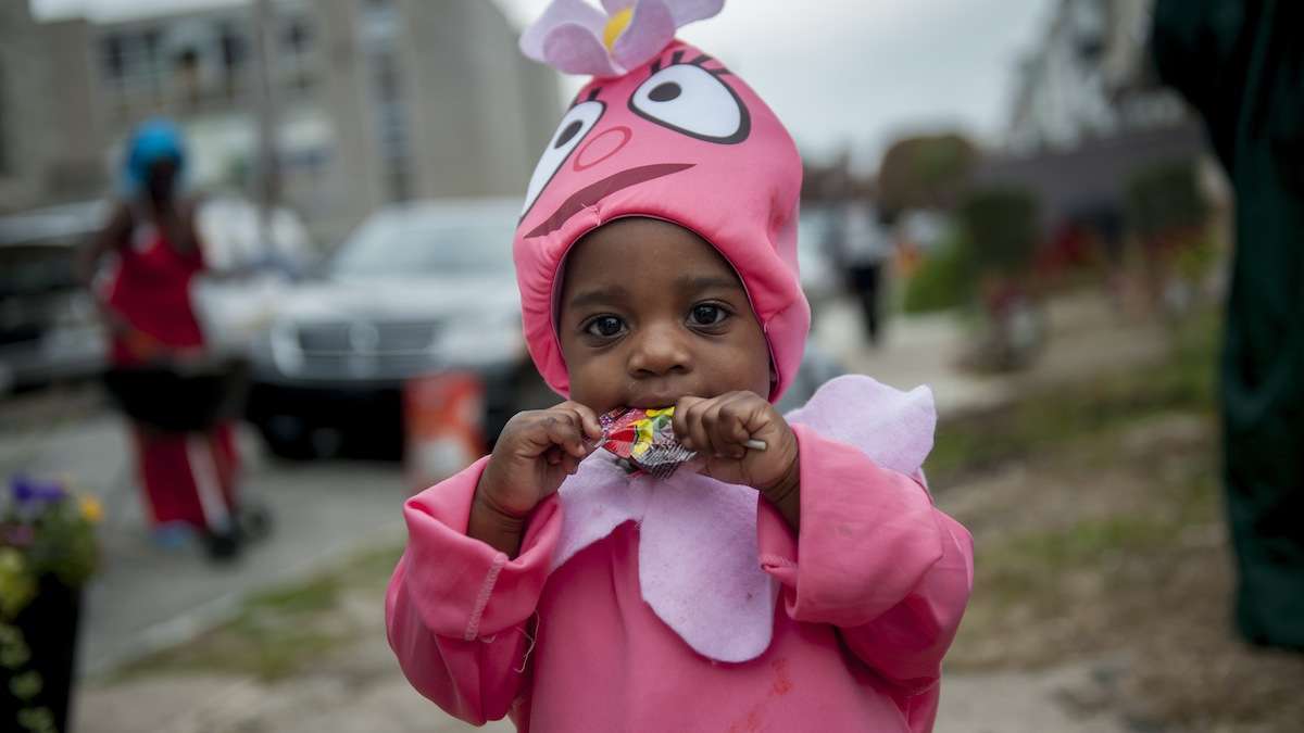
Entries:
{"label": "toddler in pink cartoon-character costume chewing a wrapped lollipop", "polygon": [[[557,0],[522,47],[595,78],[529,181],[529,352],[567,402],[407,502],[386,597],[412,685],[520,730],[923,732],[973,580],[919,466],[926,387],[833,380],[786,416],[810,325],[801,160],[674,30],[722,0]],[[597,415],[674,407],[668,479]],[[764,450],[747,447],[763,441]]]}

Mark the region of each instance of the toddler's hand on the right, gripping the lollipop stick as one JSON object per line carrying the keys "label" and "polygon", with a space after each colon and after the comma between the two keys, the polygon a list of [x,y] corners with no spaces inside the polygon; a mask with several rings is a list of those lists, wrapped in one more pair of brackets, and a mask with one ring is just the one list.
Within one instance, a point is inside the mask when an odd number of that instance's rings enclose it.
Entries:
{"label": "toddler's hand on the right, gripping the lollipop stick", "polygon": [[[795,497],[797,436],[765,398],[750,391],[681,398],[674,434],[698,451],[707,476],[752,486],[775,503]],[[748,440],[764,441],[765,450],[746,447]]]}

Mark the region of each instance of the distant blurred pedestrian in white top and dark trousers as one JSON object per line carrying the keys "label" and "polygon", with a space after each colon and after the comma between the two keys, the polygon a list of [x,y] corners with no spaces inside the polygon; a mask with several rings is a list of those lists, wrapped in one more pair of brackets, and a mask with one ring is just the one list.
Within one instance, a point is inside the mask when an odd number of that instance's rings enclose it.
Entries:
{"label": "distant blurred pedestrian in white top and dark trousers", "polygon": [[892,233],[875,207],[859,196],[842,194],[833,202],[825,250],[846,273],[846,284],[861,307],[865,337],[878,344],[883,333],[883,295],[892,260]]}

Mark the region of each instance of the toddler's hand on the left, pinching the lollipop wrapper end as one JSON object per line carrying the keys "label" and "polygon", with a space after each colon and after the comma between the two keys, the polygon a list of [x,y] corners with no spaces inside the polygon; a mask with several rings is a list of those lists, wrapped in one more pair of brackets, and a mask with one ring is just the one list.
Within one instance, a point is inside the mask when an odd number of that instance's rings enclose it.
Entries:
{"label": "toddler's hand on the left, pinching the lollipop wrapper end", "polygon": [[518,412],[498,437],[476,488],[477,503],[501,518],[524,522],[596,450],[602,428],[575,402]]}

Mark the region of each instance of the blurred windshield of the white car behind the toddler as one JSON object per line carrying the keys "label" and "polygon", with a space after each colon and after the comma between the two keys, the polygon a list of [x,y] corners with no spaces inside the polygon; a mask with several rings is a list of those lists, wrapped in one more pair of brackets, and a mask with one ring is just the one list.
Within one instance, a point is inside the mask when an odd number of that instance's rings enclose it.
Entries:
{"label": "blurred windshield of the white car behind the toddler", "polygon": [[510,213],[378,217],[344,243],[327,271],[335,277],[510,273],[514,224]]}

